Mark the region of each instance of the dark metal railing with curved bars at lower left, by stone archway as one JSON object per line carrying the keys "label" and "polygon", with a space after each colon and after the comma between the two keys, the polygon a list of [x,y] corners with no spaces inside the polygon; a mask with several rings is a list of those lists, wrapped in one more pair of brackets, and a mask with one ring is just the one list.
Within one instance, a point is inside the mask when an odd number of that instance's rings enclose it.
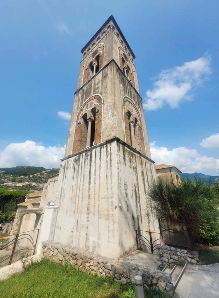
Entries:
{"label": "dark metal railing with curved bars at lower left, by stone archway", "polygon": [[[31,233],[33,232],[33,233]],[[11,237],[15,236],[12,240],[10,240],[8,243],[2,244],[0,246],[0,252],[4,250],[4,253],[1,252],[1,260],[0,260],[0,267],[1,266],[6,266],[6,265],[11,265],[11,263],[19,259],[18,257],[13,260],[15,252],[18,254],[18,252],[22,251],[33,251],[33,254],[36,252],[36,244],[37,244],[37,239],[39,235],[39,229],[27,231],[27,232],[21,232],[15,235],[10,235],[5,238],[11,239]],[[4,238],[2,238],[4,239]],[[17,244],[20,244],[19,249],[16,250]],[[10,252],[10,248],[12,247],[12,252]],[[6,260],[9,259],[9,262],[7,263]],[[3,263],[4,262],[4,263]]]}

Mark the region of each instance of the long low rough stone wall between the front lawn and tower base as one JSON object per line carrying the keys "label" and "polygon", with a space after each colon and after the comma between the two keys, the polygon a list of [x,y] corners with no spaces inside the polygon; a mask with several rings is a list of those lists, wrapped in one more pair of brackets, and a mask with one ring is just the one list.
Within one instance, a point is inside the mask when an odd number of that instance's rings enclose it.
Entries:
{"label": "long low rough stone wall between the front lawn and tower base", "polygon": [[59,242],[42,241],[41,253],[42,256],[56,263],[70,263],[84,272],[110,276],[122,284],[134,282],[134,276],[139,274],[143,278],[144,288],[156,286],[161,291],[167,291],[171,297],[173,295],[170,274],[160,270],[151,271],[147,267],[103,257]]}

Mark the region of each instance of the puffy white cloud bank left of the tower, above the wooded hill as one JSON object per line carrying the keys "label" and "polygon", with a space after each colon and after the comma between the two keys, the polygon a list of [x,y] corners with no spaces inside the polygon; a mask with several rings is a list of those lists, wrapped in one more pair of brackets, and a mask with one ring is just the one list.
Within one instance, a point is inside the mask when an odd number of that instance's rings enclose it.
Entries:
{"label": "puffy white cloud bank left of the tower, above the wooded hill", "polygon": [[0,152],[0,167],[34,166],[47,169],[59,167],[65,146],[45,147],[36,142],[11,143]]}

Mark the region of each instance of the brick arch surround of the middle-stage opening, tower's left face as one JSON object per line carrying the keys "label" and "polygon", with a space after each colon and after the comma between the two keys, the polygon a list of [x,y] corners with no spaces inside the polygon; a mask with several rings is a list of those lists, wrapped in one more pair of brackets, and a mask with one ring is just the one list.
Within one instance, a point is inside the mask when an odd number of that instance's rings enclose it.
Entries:
{"label": "brick arch surround of the middle-stage opening, tower's left face", "polygon": [[[98,100],[98,103],[95,103],[90,107],[90,109],[84,110],[84,107],[91,101],[91,100]],[[86,141],[87,141],[87,129],[82,119],[84,114],[87,114],[93,108],[96,108],[95,114],[95,138],[94,142],[95,145],[101,143],[102,140],[102,105],[103,101],[99,95],[94,95],[86,100],[81,108],[78,111],[77,118],[76,118],[76,126],[75,126],[75,136],[73,141],[73,150],[72,154],[77,153],[85,148]]]}

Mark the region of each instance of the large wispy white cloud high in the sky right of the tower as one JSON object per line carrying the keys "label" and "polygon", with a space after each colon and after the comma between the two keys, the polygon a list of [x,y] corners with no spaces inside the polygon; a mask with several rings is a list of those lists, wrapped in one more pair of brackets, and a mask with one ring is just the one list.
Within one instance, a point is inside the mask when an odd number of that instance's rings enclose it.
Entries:
{"label": "large wispy white cloud high in the sky right of the tower", "polygon": [[143,106],[146,110],[157,110],[165,104],[178,107],[182,100],[192,100],[193,90],[201,86],[211,73],[210,56],[185,62],[182,66],[163,70],[152,90],[148,89]]}

